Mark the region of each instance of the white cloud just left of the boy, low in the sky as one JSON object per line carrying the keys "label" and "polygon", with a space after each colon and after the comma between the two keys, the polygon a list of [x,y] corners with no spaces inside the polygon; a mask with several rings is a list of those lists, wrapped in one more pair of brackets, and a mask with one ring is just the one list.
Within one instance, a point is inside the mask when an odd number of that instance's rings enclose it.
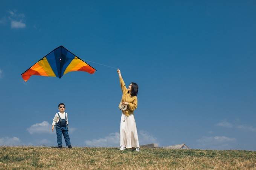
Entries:
{"label": "white cloud just left of the boy, low in the sky", "polygon": [[55,134],[52,132],[52,125],[50,123],[43,121],[42,123],[36,123],[29,128],[27,128],[27,131],[30,134],[41,134],[41,133],[48,133],[48,134]]}

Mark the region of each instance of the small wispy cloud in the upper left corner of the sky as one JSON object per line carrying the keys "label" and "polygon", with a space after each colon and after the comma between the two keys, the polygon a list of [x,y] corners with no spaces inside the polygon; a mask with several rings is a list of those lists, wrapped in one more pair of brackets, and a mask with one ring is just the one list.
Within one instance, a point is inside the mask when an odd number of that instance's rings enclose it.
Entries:
{"label": "small wispy cloud in the upper left corner of the sky", "polygon": [[11,21],[11,28],[12,29],[20,29],[25,28],[25,15],[20,13],[18,14],[16,10],[10,10],[9,13],[9,20]]}

